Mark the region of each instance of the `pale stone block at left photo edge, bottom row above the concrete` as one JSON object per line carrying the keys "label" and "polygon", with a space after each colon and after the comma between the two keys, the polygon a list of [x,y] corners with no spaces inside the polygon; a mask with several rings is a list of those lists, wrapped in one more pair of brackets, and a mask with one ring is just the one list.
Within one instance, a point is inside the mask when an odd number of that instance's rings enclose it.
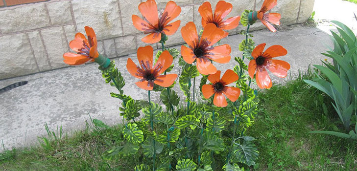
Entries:
{"label": "pale stone block at left photo edge, bottom row above the concrete", "polygon": [[39,72],[24,33],[1,36],[0,57],[0,79]]}

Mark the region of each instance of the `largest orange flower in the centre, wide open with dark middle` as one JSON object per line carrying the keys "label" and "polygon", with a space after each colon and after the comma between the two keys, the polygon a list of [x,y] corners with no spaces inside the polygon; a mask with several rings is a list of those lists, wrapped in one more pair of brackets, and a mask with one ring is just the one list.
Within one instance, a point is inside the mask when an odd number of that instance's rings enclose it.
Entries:
{"label": "largest orange flower in the centre, wide open with dark middle", "polygon": [[201,38],[198,37],[196,26],[193,22],[189,22],[182,27],[181,34],[189,45],[189,47],[181,46],[181,55],[188,64],[196,61],[199,73],[208,75],[217,71],[216,67],[211,64],[211,60],[217,63],[228,63],[231,60],[230,45],[212,46],[225,37],[225,32],[217,28],[213,23],[206,25]]}

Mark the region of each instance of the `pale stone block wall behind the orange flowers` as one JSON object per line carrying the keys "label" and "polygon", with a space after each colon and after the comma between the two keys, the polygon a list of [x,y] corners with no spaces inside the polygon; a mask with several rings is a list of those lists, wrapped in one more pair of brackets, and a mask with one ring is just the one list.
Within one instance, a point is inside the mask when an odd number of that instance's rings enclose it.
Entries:
{"label": "pale stone block wall behind the orange flowers", "polygon": [[[40,2],[41,1],[41,2]],[[134,28],[131,16],[141,16],[138,5],[144,0],[0,0],[0,79],[42,72],[68,65],[62,55],[69,52],[68,43],[84,26],[94,28],[98,50],[109,58],[135,53],[143,33]],[[169,0],[157,0],[165,8]],[[194,21],[201,28],[198,7],[203,0],[175,0],[181,6],[181,26]],[[213,8],[218,0],[209,0]],[[263,0],[226,0],[233,4],[228,17],[244,9],[259,10]],[[36,3],[34,3],[36,2]],[[25,3],[25,4],[24,4]],[[272,12],[282,14],[282,24],[306,21],[314,0],[278,0]],[[260,22],[251,29],[264,28]],[[229,31],[237,34],[241,25]],[[169,37],[167,45],[183,43],[180,31]],[[160,48],[157,43],[151,44]]]}

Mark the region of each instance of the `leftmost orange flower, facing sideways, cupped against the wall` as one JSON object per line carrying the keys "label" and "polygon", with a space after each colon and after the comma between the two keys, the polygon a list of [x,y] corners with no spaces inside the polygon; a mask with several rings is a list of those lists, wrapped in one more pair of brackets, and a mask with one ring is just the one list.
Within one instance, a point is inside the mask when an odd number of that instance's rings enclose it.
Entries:
{"label": "leftmost orange flower, facing sideways, cupped against the wall", "polygon": [[94,62],[99,56],[95,32],[92,27],[85,26],[88,40],[82,33],[75,34],[74,40],[70,42],[70,47],[77,53],[63,54],[64,62],[70,65],[84,64],[88,61]]}

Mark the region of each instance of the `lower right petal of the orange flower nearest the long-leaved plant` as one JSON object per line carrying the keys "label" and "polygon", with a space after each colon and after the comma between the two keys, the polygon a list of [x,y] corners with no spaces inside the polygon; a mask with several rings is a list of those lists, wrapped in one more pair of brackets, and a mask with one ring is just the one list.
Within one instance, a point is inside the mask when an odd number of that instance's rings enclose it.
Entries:
{"label": "lower right petal of the orange flower nearest the long-leaved plant", "polygon": [[282,60],[268,60],[266,68],[279,78],[285,78],[287,71],[290,69],[290,64]]}

